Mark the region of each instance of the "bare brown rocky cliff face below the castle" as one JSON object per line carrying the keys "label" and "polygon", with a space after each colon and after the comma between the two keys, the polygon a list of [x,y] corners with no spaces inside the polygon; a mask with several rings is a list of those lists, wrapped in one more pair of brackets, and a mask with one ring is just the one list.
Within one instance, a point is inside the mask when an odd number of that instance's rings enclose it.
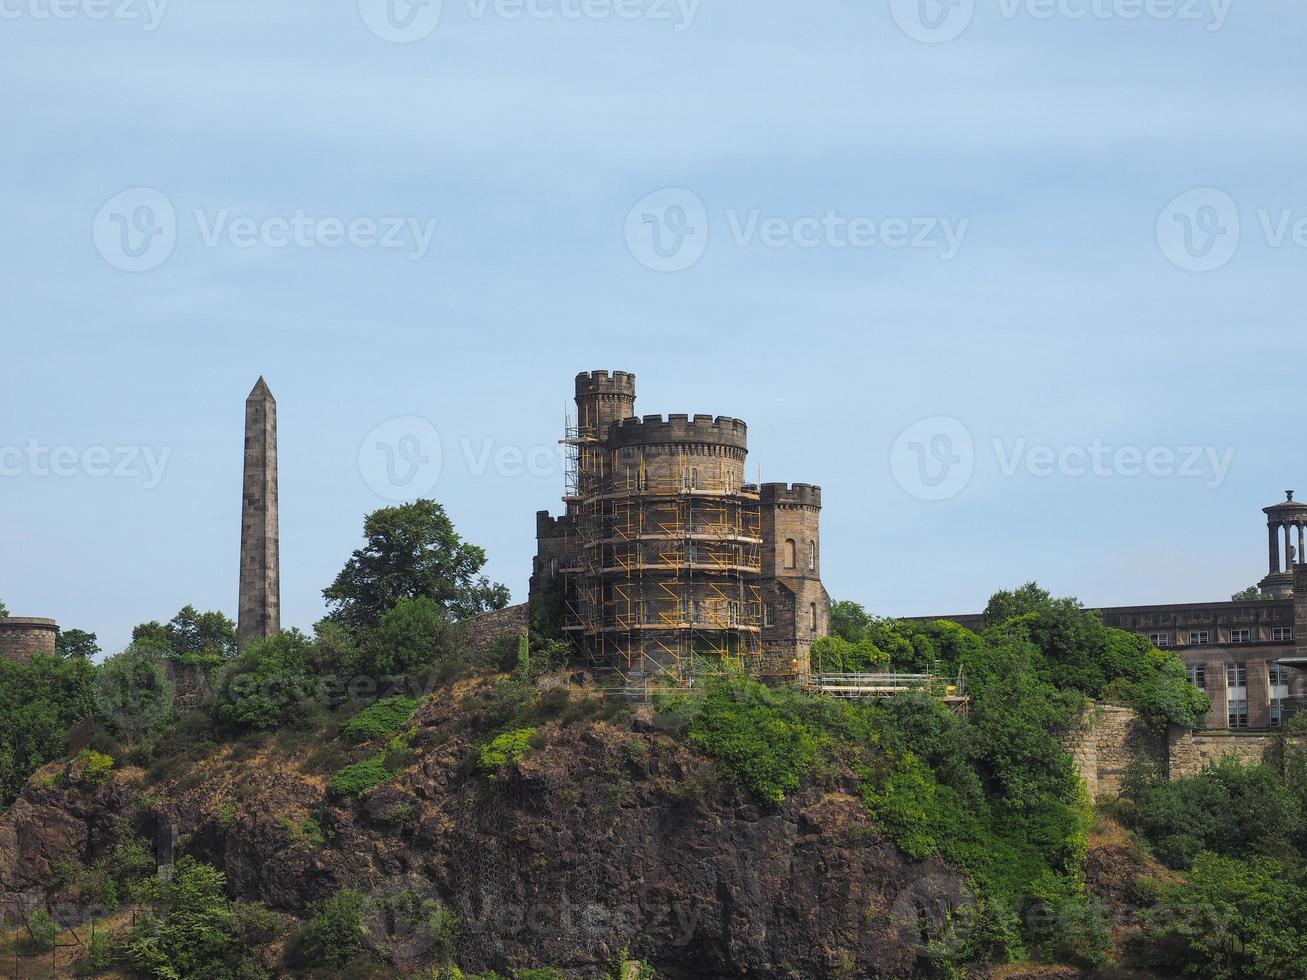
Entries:
{"label": "bare brown rocky cliff face below the castle", "polygon": [[[438,695],[410,764],[357,801],[305,771],[311,750],[238,762],[223,749],[156,785],[149,814],[123,777],[80,809],[29,785],[0,819],[0,881],[31,887],[58,857],[90,860],[116,806],[142,828],[176,823],[239,898],[274,908],[299,913],[345,885],[439,902],[459,916],[465,970],[601,976],[629,947],[672,980],[925,975],[924,938],[966,899],[946,865],[908,861],[874,830],[852,781],[767,809],[625,717],[544,724],[495,776],[472,764],[484,740],[459,698]],[[320,836],[303,830],[310,814]],[[18,834],[43,819],[48,834]],[[397,968],[429,960],[433,938],[391,932],[382,951]]]}

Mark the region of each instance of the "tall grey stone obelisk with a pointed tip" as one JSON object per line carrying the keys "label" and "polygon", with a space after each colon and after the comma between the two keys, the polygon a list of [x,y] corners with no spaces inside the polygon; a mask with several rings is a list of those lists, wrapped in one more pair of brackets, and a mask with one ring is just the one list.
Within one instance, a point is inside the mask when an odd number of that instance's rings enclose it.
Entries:
{"label": "tall grey stone obelisk with a pointed tip", "polygon": [[246,399],[244,495],[240,502],[240,608],[237,639],[281,630],[277,534],[277,400],[259,379]]}

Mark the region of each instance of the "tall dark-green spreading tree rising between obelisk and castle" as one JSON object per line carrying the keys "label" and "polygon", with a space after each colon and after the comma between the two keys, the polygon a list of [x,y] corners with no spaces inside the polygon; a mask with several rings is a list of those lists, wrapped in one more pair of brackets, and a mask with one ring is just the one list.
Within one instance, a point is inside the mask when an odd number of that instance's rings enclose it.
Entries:
{"label": "tall dark-green spreading tree rising between obelisk and castle", "polygon": [[459,537],[435,500],[374,511],[363,537],[367,544],[323,589],[333,619],[371,627],[403,598],[434,600],[454,619],[508,604],[507,587],[478,574],[485,551]]}

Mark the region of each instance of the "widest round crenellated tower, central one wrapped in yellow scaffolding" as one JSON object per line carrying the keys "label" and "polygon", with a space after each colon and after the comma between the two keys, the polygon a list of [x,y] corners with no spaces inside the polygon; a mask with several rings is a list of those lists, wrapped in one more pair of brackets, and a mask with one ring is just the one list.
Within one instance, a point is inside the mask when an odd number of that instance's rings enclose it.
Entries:
{"label": "widest round crenellated tower, central one wrapped in yellow scaffolding", "polygon": [[584,625],[597,660],[638,679],[757,661],[758,497],[737,418],[646,416],[612,425],[608,477],[586,500]]}

